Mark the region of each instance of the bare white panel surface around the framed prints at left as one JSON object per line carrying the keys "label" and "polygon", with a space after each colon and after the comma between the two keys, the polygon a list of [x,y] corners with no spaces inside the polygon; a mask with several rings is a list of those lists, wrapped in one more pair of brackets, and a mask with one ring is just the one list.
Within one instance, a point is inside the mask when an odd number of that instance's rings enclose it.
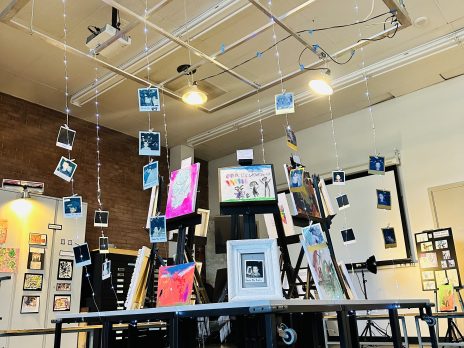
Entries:
{"label": "bare white panel surface around the framed prints at left", "polygon": [[[72,251],[72,242],[82,243],[85,239],[87,204],[82,205],[81,218],[63,219],[62,200],[59,198],[34,196],[31,199],[19,199],[17,192],[0,189],[0,219],[8,220],[8,235],[2,247],[19,248],[18,272],[16,274],[0,273],[0,276],[11,275],[11,280],[0,285],[0,330],[37,329],[53,327],[51,320],[55,318],[53,299],[55,294],[71,295],[71,312],[78,312],[80,306],[82,270],[75,268],[71,283],[71,292],[57,292],[58,259],[60,250]],[[48,229],[48,224],[60,224],[62,230]],[[29,233],[47,234],[44,270],[28,270]],[[65,243],[61,244],[64,239]],[[68,257],[69,258],[69,257]],[[41,291],[23,290],[25,273],[43,274]],[[21,314],[23,295],[40,296],[39,313]],[[64,347],[77,345],[77,334],[62,337]],[[53,347],[53,335],[23,336],[0,338],[0,347]]]}

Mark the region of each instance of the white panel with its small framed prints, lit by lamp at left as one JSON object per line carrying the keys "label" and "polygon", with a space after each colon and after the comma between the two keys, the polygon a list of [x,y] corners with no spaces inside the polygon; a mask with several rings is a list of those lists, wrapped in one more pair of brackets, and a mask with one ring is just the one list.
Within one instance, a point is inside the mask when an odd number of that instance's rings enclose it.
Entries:
{"label": "white panel with its small framed prints, lit by lamp at left", "polygon": [[[82,269],[74,267],[70,279],[68,272],[68,279],[58,280],[58,264],[60,259],[73,264],[73,242],[85,239],[87,204],[82,205],[82,217],[64,219],[62,199],[31,196],[19,199],[18,192],[0,189],[0,220],[7,221],[8,226],[0,247],[19,249],[17,272],[0,273],[12,276],[0,285],[0,330],[51,328],[51,321],[59,313],[53,309],[66,309],[69,299],[69,310],[79,311]],[[62,229],[51,230],[49,224],[61,225]],[[30,248],[39,256],[29,257]],[[28,269],[29,259],[33,269]],[[72,347],[76,341],[77,334],[64,335],[62,345]],[[53,335],[2,337],[0,347],[51,348]]]}

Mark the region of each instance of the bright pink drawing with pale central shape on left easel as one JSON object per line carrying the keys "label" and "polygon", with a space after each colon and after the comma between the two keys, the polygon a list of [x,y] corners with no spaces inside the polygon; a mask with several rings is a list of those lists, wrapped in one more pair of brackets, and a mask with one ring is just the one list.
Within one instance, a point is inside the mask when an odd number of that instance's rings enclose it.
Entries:
{"label": "bright pink drawing with pale central shape on left easel", "polygon": [[171,173],[166,219],[195,212],[200,163],[175,170]]}

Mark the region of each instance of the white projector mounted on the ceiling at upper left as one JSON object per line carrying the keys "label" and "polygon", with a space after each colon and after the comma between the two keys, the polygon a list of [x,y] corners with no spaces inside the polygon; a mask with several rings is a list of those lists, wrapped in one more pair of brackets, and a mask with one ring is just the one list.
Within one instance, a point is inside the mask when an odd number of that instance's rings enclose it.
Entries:
{"label": "white projector mounted on the ceiling at upper left", "polygon": [[[129,36],[121,34],[119,29],[116,29],[110,24],[106,24],[103,28],[95,28],[95,30],[91,30],[91,32],[92,35],[90,35],[85,42],[86,46],[91,50],[98,49],[98,53],[105,57],[114,55],[122,48],[131,44],[131,38]],[[115,37],[117,37],[116,40],[105,46],[108,40]],[[101,50],[99,49],[100,46],[102,46]]]}

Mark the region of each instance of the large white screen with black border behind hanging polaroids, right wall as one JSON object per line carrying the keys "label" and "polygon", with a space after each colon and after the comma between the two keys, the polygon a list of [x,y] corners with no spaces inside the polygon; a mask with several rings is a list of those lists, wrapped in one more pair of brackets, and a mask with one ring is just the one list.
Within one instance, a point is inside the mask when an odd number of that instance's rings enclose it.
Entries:
{"label": "large white screen with black border behind hanging polaroids, right wall", "polygon": [[[327,189],[337,214],[332,220],[330,235],[338,260],[347,264],[361,263],[375,255],[381,265],[399,260],[407,262],[411,258],[400,187],[395,166],[388,167],[385,175],[368,175],[367,171],[347,175],[346,184],[342,186],[328,183]],[[390,191],[390,210],[377,207],[377,190]],[[343,194],[348,197],[349,207],[340,210],[337,197]],[[355,241],[347,244],[341,231],[350,228],[353,229]],[[386,242],[382,231],[385,228],[394,229],[394,243]]]}

